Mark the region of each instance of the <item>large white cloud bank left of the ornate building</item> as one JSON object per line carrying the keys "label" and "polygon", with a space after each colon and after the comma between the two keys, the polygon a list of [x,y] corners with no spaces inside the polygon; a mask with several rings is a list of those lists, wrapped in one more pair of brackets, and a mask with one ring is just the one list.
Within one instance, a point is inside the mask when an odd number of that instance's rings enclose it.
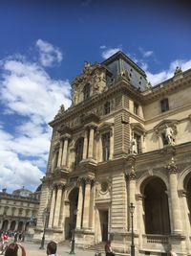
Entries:
{"label": "large white cloud bank left of the ornate building", "polygon": [[[48,50],[47,50],[48,51]],[[53,80],[36,62],[17,55],[1,60],[0,98],[3,119],[14,124],[0,126],[0,188],[25,185],[34,189],[44,175],[53,120],[60,105],[71,105],[69,81]],[[6,126],[5,126],[6,125]]]}

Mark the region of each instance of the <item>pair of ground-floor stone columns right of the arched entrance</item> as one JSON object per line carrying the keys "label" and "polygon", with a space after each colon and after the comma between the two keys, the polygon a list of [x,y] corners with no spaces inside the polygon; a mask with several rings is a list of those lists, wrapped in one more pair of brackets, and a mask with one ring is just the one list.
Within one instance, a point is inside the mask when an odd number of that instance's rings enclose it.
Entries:
{"label": "pair of ground-floor stone columns right of the arched entrance", "polygon": [[[93,178],[87,177],[79,180],[79,194],[77,203],[77,217],[76,217],[76,228],[77,229],[91,229],[90,222],[90,211],[91,211],[91,185]],[[83,181],[85,185],[83,195]]]}

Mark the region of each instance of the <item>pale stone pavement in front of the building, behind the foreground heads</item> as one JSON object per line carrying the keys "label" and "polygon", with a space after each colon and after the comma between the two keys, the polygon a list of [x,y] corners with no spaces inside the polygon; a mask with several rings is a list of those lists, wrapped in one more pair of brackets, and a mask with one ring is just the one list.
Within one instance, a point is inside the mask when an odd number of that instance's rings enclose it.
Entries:
{"label": "pale stone pavement in front of the building, behind the foreground heads", "polygon": [[[33,244],[33,243],[22,243],[26,249],[27,256],[46,256],[46,249],[39,249],[40,244]],[[46,248],[45,244],[45,248]],[[69,254],[70,247],[66,247],[64,245],[58,244],[57,246],[57,253],[59,256],[70,256],[73,254]],[[82,250],[75,248],[75,255],[76,256],[95,256],[95,251],[89,250]],[[20,254],[19,254],[20,256]],[[103,255],[104,256],[104,255]]]}

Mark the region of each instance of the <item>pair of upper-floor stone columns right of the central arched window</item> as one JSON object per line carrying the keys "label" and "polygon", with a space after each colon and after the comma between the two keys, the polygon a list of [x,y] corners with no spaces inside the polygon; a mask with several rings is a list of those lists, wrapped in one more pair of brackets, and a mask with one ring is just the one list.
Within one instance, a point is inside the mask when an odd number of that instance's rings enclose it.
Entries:
{"label": "pair of upper-floor stone columns right of the central arched window", "polygon": [[95,128],[96,126],[90,127],[89,141],[88,141],[88,130],[85,130],[84,135],[84,147],[83,147],[83,159],[93,158],[94,156],[94,141],[95,141]]}

